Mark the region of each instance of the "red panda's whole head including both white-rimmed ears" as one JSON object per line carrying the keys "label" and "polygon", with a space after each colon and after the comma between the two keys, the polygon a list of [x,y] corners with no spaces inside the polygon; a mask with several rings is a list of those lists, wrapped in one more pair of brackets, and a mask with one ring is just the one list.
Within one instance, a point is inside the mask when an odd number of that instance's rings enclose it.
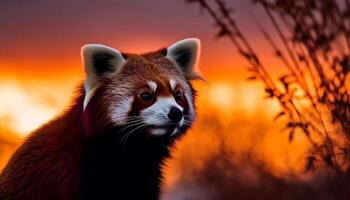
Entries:
{"label": "red panda's whole head including both white-rimmed ears", "polygon": [[180,134],[195,118],[190,81],[202,79],[195,71],[199,55],[200,41],[194,38],[142,55],[85,45],[84,112],[94,107],[91,114],[103,113],[109,124],[151,135]]}

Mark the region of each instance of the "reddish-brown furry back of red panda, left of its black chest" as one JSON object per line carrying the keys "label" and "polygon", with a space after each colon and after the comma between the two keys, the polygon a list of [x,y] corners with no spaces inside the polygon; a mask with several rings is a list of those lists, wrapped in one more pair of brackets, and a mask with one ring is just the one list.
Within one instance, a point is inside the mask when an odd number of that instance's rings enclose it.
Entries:
{"label": "reddish-brown furry back of red panda, left of its black chest", "polygon": [[84,139],[77,105],[24,141],[0,176],[0,199],[79,197]]}

